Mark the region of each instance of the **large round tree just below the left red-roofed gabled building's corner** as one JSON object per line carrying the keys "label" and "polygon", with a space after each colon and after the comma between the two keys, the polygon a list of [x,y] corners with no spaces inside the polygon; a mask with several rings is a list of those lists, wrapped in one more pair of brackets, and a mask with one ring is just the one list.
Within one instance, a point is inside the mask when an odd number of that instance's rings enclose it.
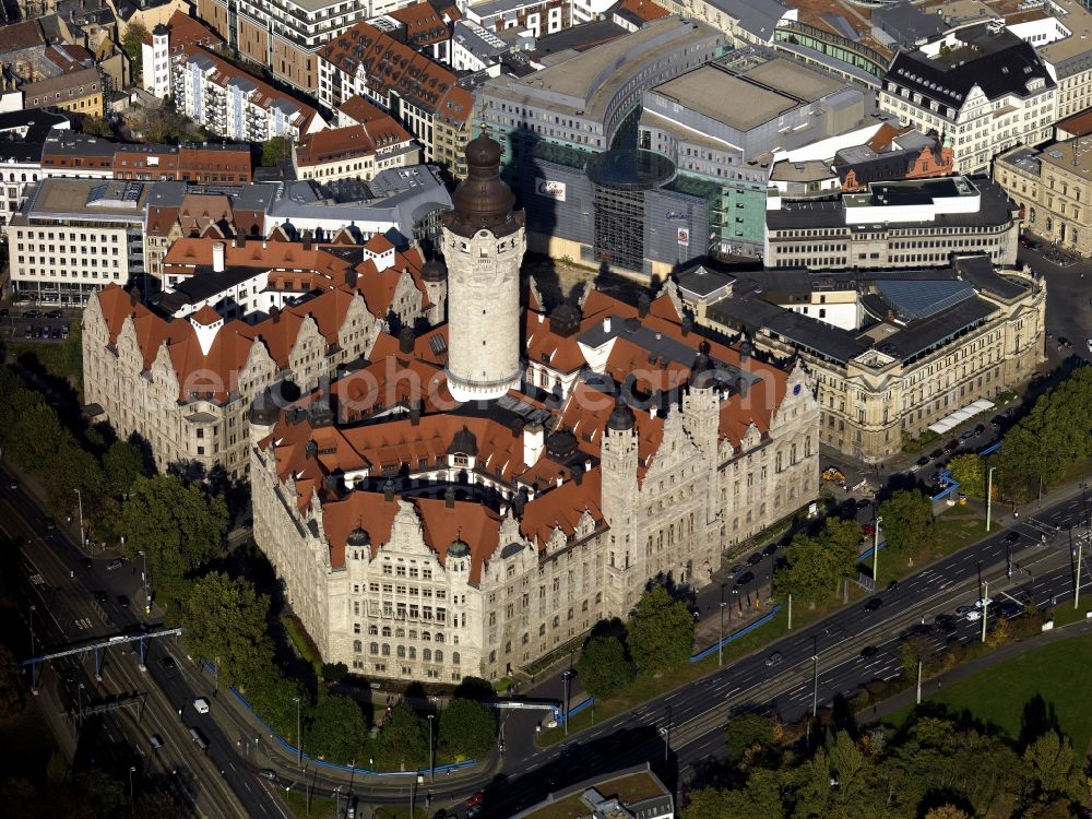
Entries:
{"label": "large round tree just below the left red-roofed gabled building's corner", "polygon": [[126,554],[147,556],[156,591],[169,598],[181,593],[190,572],[219,554],[227,508],[223,498],[177,475],[139,478],[121,507],[118,529],[126,536]]}

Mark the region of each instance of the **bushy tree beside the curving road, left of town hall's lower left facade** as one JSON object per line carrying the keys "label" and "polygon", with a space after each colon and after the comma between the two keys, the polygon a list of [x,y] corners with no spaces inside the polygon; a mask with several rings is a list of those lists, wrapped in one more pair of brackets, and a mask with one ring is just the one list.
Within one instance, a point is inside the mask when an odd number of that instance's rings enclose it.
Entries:
{"label": "bushy tree beside the curving road, left of town hall's lower left facade", "polygon": [[246,682],[273,662],[265,634],[269,597],[249,580],[213,572],[198,580],[182,603],[190,652],[216,664],[219,681]]}

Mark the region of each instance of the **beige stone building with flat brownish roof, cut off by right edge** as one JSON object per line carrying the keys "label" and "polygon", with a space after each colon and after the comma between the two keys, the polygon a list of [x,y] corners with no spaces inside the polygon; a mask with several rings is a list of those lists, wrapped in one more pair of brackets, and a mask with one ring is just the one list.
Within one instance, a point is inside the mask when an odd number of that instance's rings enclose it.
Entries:
{"label": "beige stone building with flat brownish roof, cut off by right edge", "polygon": [[994,162],[994,179],[1020,205],[1024,226],[1048,241],[1092,253],[1092,138],[1018,147]]}

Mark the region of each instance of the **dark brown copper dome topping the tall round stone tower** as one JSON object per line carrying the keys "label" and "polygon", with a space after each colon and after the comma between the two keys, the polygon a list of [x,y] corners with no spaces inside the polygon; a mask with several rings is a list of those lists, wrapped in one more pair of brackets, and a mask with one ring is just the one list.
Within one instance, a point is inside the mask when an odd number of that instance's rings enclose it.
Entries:
{"label": "dark brown copper dome topping the tall round stone tower", "polygon": [[451,197],[453,210],[443,215],[452,233],[470,237],[484,228],[500,237],[519,229],[522,219],[512,211],[515,194],[500,178],[500,145],[485,133],[466,143],[466,179]]}

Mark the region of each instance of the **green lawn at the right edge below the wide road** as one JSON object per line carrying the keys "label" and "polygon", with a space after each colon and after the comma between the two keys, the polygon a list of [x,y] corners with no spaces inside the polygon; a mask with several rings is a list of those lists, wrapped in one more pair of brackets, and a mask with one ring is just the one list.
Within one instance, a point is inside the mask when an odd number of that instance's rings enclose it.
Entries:
{"label": "green lawn at the right edge below the wide road", "polygon": [[[1024,709],[1036,696],[1057,715],[1058,725],[1084,755],[1092,743],[1092,636],[1073,637],[1007,660],[993,668],[945,687],[929,696],[952,711],[970,711],[980,720],[1000,726],[1010,737],[1020,736]],[[901,724],[910,709],[891,715]]]}

